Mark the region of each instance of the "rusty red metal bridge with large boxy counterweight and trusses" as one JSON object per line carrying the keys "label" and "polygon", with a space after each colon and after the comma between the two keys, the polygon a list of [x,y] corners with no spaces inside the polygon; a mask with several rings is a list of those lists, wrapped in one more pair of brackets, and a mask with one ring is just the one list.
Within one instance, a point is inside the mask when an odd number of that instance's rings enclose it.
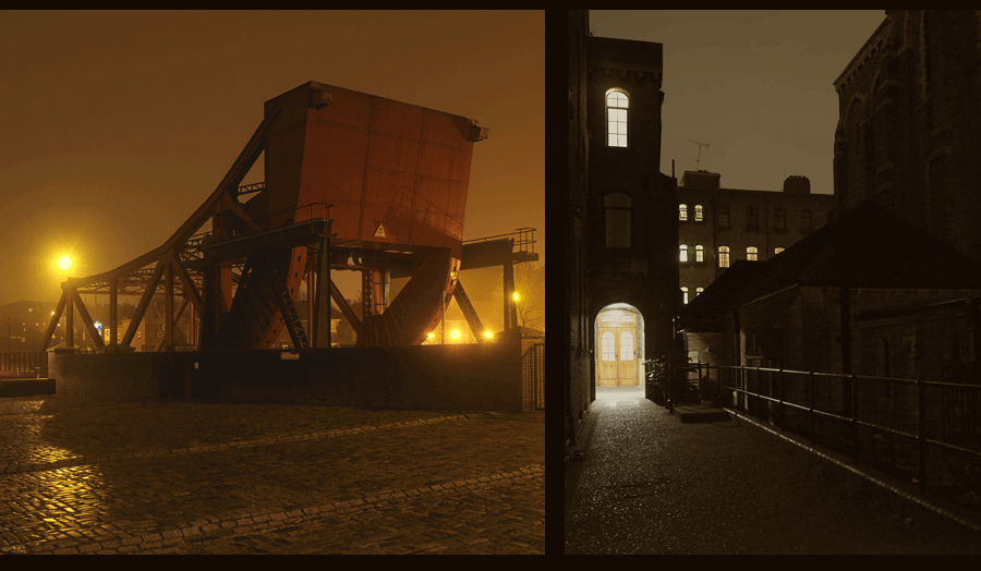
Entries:
{"label": "rusty red metal bridge with large boxy counterweight and trusses", "polygon": [[[534,229],[462,242],[473,144],[487,138],[486,129],[316,82],[266,101],[264,111],[217,189],[166,243],[62,284],[41,351],[62,314],[65,345],[74,348],[75,307],[97,351],[132,351],[154,296],[165,306],[157,351],[174,345],[185,311],[189,341],[201,350],[265,349],[283,327],[296,348],[330,347],[328,296],[359,345],[421,343],[452,297],[482,339],[459,271],[497,265],[504,268],[505,329],[517,325],[512,267],[537,259]],[[241,185],[259,155],[266,181]],[[210,231],[202,232],[208,221]],[[330,279],[338,269],[362,274],[362,319]],[[390,279],[407,277],[389,300]],[[303,281],[306,329],[294,305]],[[108,344],[82,301],[87,293],[109,296]],[[140,296],[121,337],[119,295]]]}

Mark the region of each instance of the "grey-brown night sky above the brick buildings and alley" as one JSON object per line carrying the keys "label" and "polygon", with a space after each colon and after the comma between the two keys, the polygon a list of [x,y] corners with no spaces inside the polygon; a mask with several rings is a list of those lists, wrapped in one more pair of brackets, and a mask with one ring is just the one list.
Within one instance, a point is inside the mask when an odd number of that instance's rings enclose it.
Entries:
{"label": "grey-brown night sky above the brick buildings and alley", "polygon": [[596,36],[664,45],[661,172],[701,169],[728,189],[783,189],[801,174],[832,194],[833,82],[884,10],[591,10]]}

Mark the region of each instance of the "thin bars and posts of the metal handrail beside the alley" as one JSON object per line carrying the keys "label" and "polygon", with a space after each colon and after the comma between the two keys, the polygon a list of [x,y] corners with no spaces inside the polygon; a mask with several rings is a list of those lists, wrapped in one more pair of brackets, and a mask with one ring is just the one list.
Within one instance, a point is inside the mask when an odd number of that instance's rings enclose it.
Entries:
{"label": "thin bars and posts of the metal handrail beside the alley", "polygon": [[[670,373],[669,367],[669,373]],[[808,420],[810,425],[810,440],[811,446],[814,445],[814,415],[826,416],[831,418],[837,418],[839,421],[847,421],[852,425],[852,436],[851,436],[851,445],[852,445],[852,462],[858,463],[859,459],[859,449],[858,449],[858,427],[865,426],[868,428],[873,428],[876,430],[883,430],[889,434],[894,434],[897,436],[901,436],[904,438],[910,438],[917,441],[918,444],[918,455],[919,455],[919,466],[918,466],[918,485],[919,490],[924,493],[927,490],[927,445],[934,445],[941,448],[946,448],[949,450],[954,450],[957,452],[966,453],[971,457],[976,457],[981,459],[981,451],[971,450],[968,448],[964,448],[960,446],[952,445],[949,442],[943,442],[940,440],[935,440],[933,438],[927,438],[927,387],[955,387],[958,389],[968,389],[968,390],[979,390],[981,391],[981,385],[968,385],[968,384],[957,384],[957,382],[941,382],[935,380],[924,380],[924,379],[903,379],[896,377],[876,377],[871,375],[853,375],[847,373],[819,373],[813,370],[787,370],[783,368],[770,368],[770,367],[749,367],[741,365],[702,365],[699,364],[697,366],[692,365],[680,365],[677,367],[678,369],[692,369],[692,370],[701,370],[702,368],[710,370],[715,368],[718,370],[718,389],[728,389],[737,394],[737,408],[741,409],[743,413],[747,413],[747,401],[749,397],[753,397],[759,400],[770,401],[770,402],[778,402],[779,403],[779,418],[780,418],[780,432],[785,429],[784,423],[784,406],[790,406],[794,409],[799,409],[802,411],[808,411]],[[722,384],[722,369],[725,368],[726,373],[726,385]],[[736,372],[739,380],[737,381],[737,386],[732,386],[732,373]],[[767,394],[763,394],[762,392],[753,392],[748,388],[743,388],[747,386],[746,382],[746,373],[747,372],[764,372],[764,373],[778,373],[780,375],[780,397],[774,398]],[[784,380],[786,375],[801,375],[807,376],[808,381],[808,404],[802,405],[795,402],[787,402],[784,398]],[[851,416],[843,416],[839,414],[834,414],[826,411],[819,411],[814,409],[814,377],[832,377],[832,378],[840,378],[843,381],[848,379],[851,380]],[[670,378],[670,377],[668,377]],[[916,385],[917,387],[917,404],[918,404],[918,415],[917,415],[917,434],[911,434],[905,430],[899,430],[896,428],[891,428],[888,426],[884,426],[881,424],[861,421],[858,418],[859,408],[858,408],[858,382],[857,380],[877,380],[885,382],[897,382],[903,385]],[[759,382],[759,381],[758,381]],[[670,382],[668,385],[668,390],[670,390]],[[759,389],[758,389],[759,390]],[[773,377],[771,376],[771,390],[770,393],[773,394]],[[741,400],[740,397],[741,396]],[[759,402],[759,401],[758,401]]]}

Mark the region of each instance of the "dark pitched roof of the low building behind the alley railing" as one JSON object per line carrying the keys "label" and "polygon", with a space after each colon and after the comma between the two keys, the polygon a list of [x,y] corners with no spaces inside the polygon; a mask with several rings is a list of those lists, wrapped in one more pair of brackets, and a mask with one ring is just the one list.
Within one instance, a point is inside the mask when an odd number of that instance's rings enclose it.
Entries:
{"label": "dark pitched roof of the low building behind the alley railing", "polygon": [[[754,267],[741,269],[742,265]],[[730,272],[735,275],[728,277]],[[717,316],[794,284],[981,288],[981,264],[865,202],[766,262],[737,262],[681,316]]]}

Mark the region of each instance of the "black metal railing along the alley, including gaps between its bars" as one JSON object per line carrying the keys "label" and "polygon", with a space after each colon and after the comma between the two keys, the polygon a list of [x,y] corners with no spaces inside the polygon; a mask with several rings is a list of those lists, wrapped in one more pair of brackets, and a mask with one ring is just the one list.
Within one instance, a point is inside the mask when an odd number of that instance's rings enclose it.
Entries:
{"label": "black metal railing along the alley, including gaps between its bars", "polygon": [[[935,469],[933,475],[940,484],[957,477],[977,481],[981,473],[981,384],[977,381],[731,365],[674,369],[669,368],[669,375],[681,373],[677,369],[694,369],[700,375],[715,369],[718,399],[725,408],[753,415],[780,432],[807,436],[812,446],[821,439],[831,448],[844,447],[855,463],[861,459],[894,474],[913,472],[920,491],[927,489],[928,463],[943,464],[943,473]],[[818,427],[821,423],[831,424],[822,430]],[[945,453],[960,459],[956,470],[950,467],[954,462],[941,462]],[[916,465],[911,465],[912,459]],[[952,475],[955,471],[959,476]]]}

